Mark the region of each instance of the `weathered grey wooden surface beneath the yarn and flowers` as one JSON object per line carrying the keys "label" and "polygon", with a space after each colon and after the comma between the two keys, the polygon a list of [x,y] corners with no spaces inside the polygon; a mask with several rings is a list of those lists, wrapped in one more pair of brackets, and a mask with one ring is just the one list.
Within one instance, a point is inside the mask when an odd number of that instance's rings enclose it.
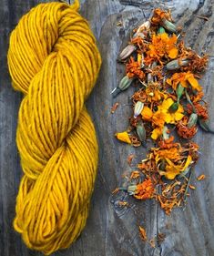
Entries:
{"label": "weathered grey wooden surface beneath the yarn and flowers", "polygon": [[[19,18],[39,0],[1,0],[0,5],[0,255],[42,255],[25,248],[20,236],[12,228],[15,216],[15,195],[22,175],[15,147],[17,112],[22,96],[10,84],[6,64],[8,38]],[[209,114],[214,127],[214,4],[211,0],[86,0],[81,13],[97,36],[103,65],[97,87],[88,100],[89,111],[95,121],[99,140],[99,168],[87,227],[68,250],[58,251],[61,256],[212,256],[214,255],[214,137],[199,131],[195,141],[200,145],[200,160],[196,173],[208,177],[197,182],[191,191],[185,210],[174,210],[166,216],[156,201],[138,202],[123,195],[112,197],[111,191],[121,184],[121,175],[131,170],[127,155],[145,151],[118,143],[116,131],[127,128],[130,114],[129,89],[117,97],[120,103],[114,115],[110,108],[116,102],[110,92],[124,75],[124,67],[117,64],[117,53],[125,46],[129,33],[139,22],[145,21],[152,8],[170,7],[178,25],[187,31],[186,43],[199,54],[210,55],[209,67],[200,84],[209,101]],[[198,15],[207,16],[208,21]],[[117,26],[121,21],[122,26]],[[137,163],[134,162],[134,163]],[[134,167],[133,167],[134,168]],[[130,207],[118,207],[118,200],[127,200]],[[138,225],[146,228],[148,238],[165,233],[156,248],[144,243],[138,236]]]}

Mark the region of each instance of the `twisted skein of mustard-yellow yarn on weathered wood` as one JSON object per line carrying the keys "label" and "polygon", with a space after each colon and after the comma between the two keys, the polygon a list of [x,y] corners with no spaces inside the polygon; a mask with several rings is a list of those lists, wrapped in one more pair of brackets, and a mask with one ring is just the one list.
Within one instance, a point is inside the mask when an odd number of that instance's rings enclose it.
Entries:
{"label": "twisted skein of mustard-yellow yarn on weathered wood", "polygon": [[40,4],[10,37],[13,87],[24,93],[16,133],[24,176],[15,230],[45,254],[83,230],[97,173],[97,138],[85,101],[101,58],[79,3]]}

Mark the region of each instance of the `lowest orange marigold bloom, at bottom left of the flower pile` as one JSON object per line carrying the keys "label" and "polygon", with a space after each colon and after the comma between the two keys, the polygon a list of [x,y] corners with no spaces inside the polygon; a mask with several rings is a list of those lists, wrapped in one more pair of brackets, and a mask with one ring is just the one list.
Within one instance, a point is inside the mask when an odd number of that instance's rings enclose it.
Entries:
{"label": "lowest orange marigold bloom, at bottom left of the flower pile", "polygon": [[135,190],[134,197],[138,200],[148,200],[151,199],[154,195],[154,185],[150,178],[145,179],[142,183],[137,185]]}

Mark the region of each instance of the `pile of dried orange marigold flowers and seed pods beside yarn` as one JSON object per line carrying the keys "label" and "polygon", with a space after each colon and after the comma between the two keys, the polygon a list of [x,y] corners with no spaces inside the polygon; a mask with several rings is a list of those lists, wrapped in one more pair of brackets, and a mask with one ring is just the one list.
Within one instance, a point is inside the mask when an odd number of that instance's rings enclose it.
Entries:
{"label": "pile of dried orange marigold flowers and seed pods beside yarn", "polygon": [[[130,174],[127,188],[117,191],[126,190],[138,200],[154,198],[167,214],[183,205],[189,188],[195,189],[190,178],[199,146],[189,139],[197,133],[198,124],[211,131],[198,81],[208,56],[199,56],[181,37],[181,28],[173,24],[170,12],[155,9],[149,21],[134,29],[120,53],[118,60],[126,65],[126,76],[112,92],[117,97],[132,83],[139,85],[132,95],[130,128],[118,132],[117,139],[139,147],[152,138],[155,145]],[[178,143],[172,135],[175,131],[186,141]]]}

